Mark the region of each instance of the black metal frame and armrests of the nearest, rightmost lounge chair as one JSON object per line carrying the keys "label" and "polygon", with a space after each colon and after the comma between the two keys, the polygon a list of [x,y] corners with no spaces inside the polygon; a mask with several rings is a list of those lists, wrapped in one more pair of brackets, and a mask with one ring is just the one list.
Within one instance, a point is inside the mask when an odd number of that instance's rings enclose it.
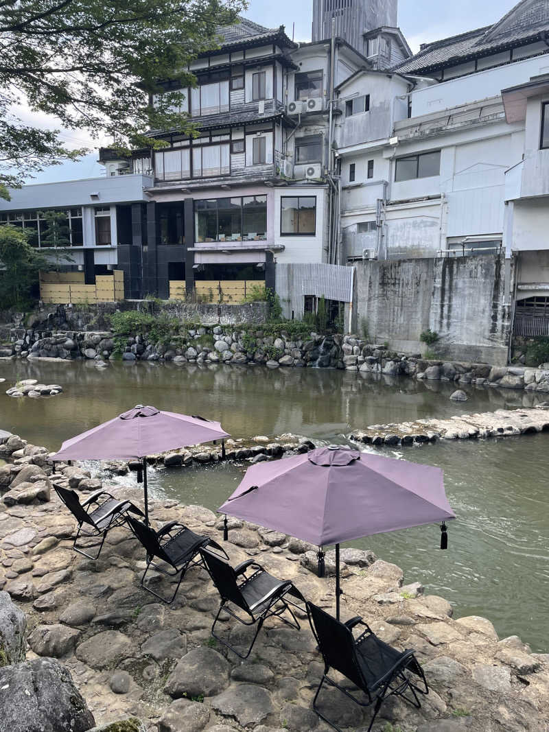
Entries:
{"label": "black metal frame and armrests of the nearest, rightmost lounge chair", "polygon": [[[362,620],[362,617],[356,616],[354,618],[351,618],[350,620],[346,621],[345,623],[341,623],[342,625],[346,626],[348,628],[349,633],[351,633],[351,638],[353,639],[353,648],[354,648],[354,658],[353,662],[356,666],[356,671],[359,674],[359,679],[362,681],[362,684],[360,686],[356,685],[356,687],[362,691],[366,697],[367,701],[360,701],[356,698],[354,694],[352,694],[350,691],[346,690],[340,684],[337,684],[334,679],[331,679],[328,676],[328,672],[330,668],[332,668],[332,665],[330,665],[329,660],[327,659],[326,655],[322,651],[322,645],[321,640],[318,638],[318,634],[315,630],[315,626],[312,619],[312,613],[310,611],[310,605],[312,605],[311,602],[307,602],[307,614],[309,616],[309,622],[311,630],[313,630],[313,635],[315,636],[315,640],[318,643],[318,649],[321,651],[322,658],[324,660],[324,673],[322,674],[322,679],[320,681],[320,684],[318,684],[318,689],[316,690],[315,696],[313,698],[313,709],[318,714],[318,717],[321,718],[321,720],[324,720],[324,722],[327,722],[332,728],[337,730],[337,732],[342,732],[341,729],[335,724],[335,722],[332,722],[332,720],[329,720],[328,717],[326,717],[322,712],[318,709],[317,706],[317,700],[318,695],[321,692],[321,689],[324,685],[324,682],[326,684],[329,684],[332,687],[335,687],[340,692],[343,692],[351,701],[354,701],[358,706],[361,706],[362,708],[365,708],[367,706],[371,706],[374,704],[374,711],[372,719],[370,720],[370,725],[367,728],[367,732],[370,732],[373,723],[376,721],[376,717],[378,715],[379,710],[381,709],[381,704],[390,696],[400,696],[404,699],[404,701],[407,701],[412,706],[414,706],[416,709],[419,709],[421,707],[421,702],[419,701],[418,694],[427,695],[429,693],[429,687],[427,686],[427,680],[425,679],[425,673],[423,672],[423,669],[421,665],[419,665],[419,662],[417,661],[415,657],[415,651],[411,649],[407,649],[406,651],[403,651],[402,654],[400,654],[400,657],[398,658],[397,662],[395,662],[392,667],[388,668],[385,673],[376,681],[376,690],[370,691],[370,687],[364,677],[364,674],[362,673],[362,670],[360,668],[359,663],[356,661],[356,654],[359,653],[357,651],[358,646],[360,645],[361,641],[363,641],[368,635],[373,635],[374,638],[377,638],[376,634],[370,629],[367,623]],[[324,612],[324,610],[322,610]],[[328,613],[326,613],[328,614]],[[334,618],[335,622],[337,621]],[[362,625],[365,627],[365,630],[361,633],[361,635],[358,636],[358,638],[354,638],[352,635],[352,630],[357,625]],[[381,640],[381,639],[379,639]],[[419,687],[417,684],[414,684],[411,679],[405,675],[404,671],[411,671],[412,673],[415,673],[417,676],[419,676],[419,681],[421,683],[421,687]],[[341,673],[341,672],[340,672]],[[343,674],[345,675],[345,674]],[[348,677],[347,677],[348,678]],[[350,679],[353,683],[355,683],[352,679]],[[406,692],[408,689],[411,691],[412,698],[410,696],[406,695]]]}

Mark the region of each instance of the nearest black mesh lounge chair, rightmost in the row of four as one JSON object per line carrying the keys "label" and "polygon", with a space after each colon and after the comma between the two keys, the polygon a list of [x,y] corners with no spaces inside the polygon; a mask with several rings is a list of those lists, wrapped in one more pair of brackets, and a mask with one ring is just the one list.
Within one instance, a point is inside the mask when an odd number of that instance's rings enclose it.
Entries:
{"label": "nearest black mesh lounge chair, rightmost in the row of four", "polygon": [[[316,706],[318,694],[324,681],[336,687],[359,706],[374,704],[373,717],[367,732],[370,732],[374,720],[383,701],[392,695],[401,696],[417,709],[421,706],[417,694],[427,694],[429,689],[422,667],[414,656],[414,651],[397,651],[381,641],[362,618],[356,617],[342,623],[324,610],[317,608],[312,602],[307,602],[307,612],[311,621],[311,628],[318,642],[318,648],[324,659],[324,674],[315,698],[313,709],[321,719],[328,722],[338,732],[340,728],[319,712]],[[363,625],[365,631],[358,638],[354,638],[352,630],[356,625]],[[343,673],[349,681],[365,694],[365,701],[359,701],[351,692],[344,689],[330,679],[330,668]],[[417,679],[419,677],[419,684]],[[407,695],[407,692],[411,695]]]}

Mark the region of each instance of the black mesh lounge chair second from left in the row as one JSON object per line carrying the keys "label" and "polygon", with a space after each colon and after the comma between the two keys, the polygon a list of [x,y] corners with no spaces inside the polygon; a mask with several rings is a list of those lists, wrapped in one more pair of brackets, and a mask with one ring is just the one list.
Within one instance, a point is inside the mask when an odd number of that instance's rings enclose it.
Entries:
{"label": "black mesh lounge chair second from left in the row", "polygon": [[[151,594],[154,594],[154,597],[165,602],[166,605],[171,605],[173,600],[175,600],[179,585],[187,569],[202,564],[200,557],[201,548],[210,545],[227,556],[225,550],[217,542],[214,542],[213,539],[201,536],[201,534],[195,534],[194,531],[187,529],[187,526],[184,523],[179,523],[179,521],[170,521],[164,526],[161,526],[158,531],[154,531],[150,526],[145,526],[144,523],[130,516],[127,517],[127,522],[147,553],[147,566],[143,572],[143,577],[141,577],[141,586]],[[198,561],[195,561],[197,556]],[[155,557],[165,562],[171,569],[166,569],[156,564],[153,561]],[[162,572],[163,575],[167,575],[168,577],[177,577],[179,575],[179,581],[170,600],[167,600],[143,584],[145,575],[149,572],[150,567],[154,567],[158,572]]]}

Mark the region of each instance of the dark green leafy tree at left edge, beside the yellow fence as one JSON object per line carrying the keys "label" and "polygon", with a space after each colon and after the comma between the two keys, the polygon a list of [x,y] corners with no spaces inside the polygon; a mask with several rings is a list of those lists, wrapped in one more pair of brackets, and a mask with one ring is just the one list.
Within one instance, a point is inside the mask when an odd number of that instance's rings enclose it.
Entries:
{"label": "dark green leafy tree at left edge, beside the yellow fence", "polygon": [[40,269],[48,261],[31,247],[22,228],[6,224],[0,226],[0,262],[0,307],[24,310],[31,303],[31,289]]}

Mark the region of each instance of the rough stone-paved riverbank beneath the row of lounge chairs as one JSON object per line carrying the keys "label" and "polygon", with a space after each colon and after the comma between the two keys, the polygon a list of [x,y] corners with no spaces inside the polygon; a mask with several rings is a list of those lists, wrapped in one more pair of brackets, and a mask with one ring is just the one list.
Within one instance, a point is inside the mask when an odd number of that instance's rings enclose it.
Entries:
{"label": "rough stone-paved riverbank beneath the row of lounge chairs", "polygon": [[[44,448],[23,451],[0,468],[0,493],[16,482],[42,491],[27,504],[0,501],[0,732],[329,732],[311,709],[324,665],[305,613],[299,631],[267,621],[240,661],[210,635],[219,597],[201,567],[168,606],[140,586],[145,553],[124,527],[108,534],[99,560],[75,553],[75,522],[51,490],[70,485],[70,470],[52,474]],[[140,502],[135,488],[102,487]],[[82,500],[90,488],[80,482]],[[223,519],[206,508],[157,500],[151,516],[223,542]],[[333,551],[320,579],[315,547],[229,526],[232,564],[253,557],[334,613]],[[374,732],[547,731],[549,655],[499,639],[488,619],[456,619],[447,600],[405,585],[402,570],[371,551],[343,548],[342,559],[343,619],[361,615],[387,643],[415,649],[430,685],[419,710],[384,703]],[[152,587],[169,590],[165,579]],[[223,616],[233,645],[243,648],[249,630]],[[371,710],[343,695],[328,689],[320,703],[345,731],[367,728]]]}

